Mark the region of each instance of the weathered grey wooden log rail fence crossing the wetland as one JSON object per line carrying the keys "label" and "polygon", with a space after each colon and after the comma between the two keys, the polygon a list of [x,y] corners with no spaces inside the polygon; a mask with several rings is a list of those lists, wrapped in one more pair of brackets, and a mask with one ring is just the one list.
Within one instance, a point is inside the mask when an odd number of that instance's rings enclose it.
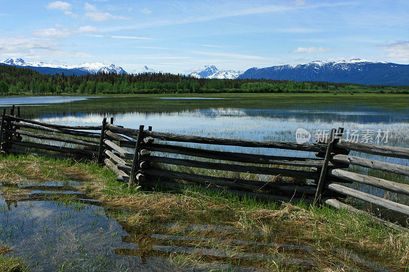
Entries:
{"label": "weathered grey wooden log rail fence crossing the wetland", "polygon": [[[409,185],[348,171],[349,165],[366,167],[409,177],[409,166],[350,156],[350,151],[385,157],[409,159],[409,149],[342,139],[343,129],[332,130],[322,142],[293,143],[248,139],[215,138],[123,128],[113,118],[101,126],[62,126],[20,117],[19,108],[3,111],[0,128],[1,152],[97,160],[112,169],[117,181],[128,186],[152,188],[157,184],[175,188],[183,184],[204,186],[212,191],[229,191],[264,200],[326,203],[335,208],[357,210],[341,200],[352,197],[362,202],[403,214],[409,218],[409,206],[346,186],[360,183],[394,193],[409,195]],[[48,143],[44,143],[48,141]],[[263,147],[275,150],[313,152],[315,158],[258,155],[206,149],[202,145]],[[189,145],[189,146],[184,146]],[[270,152],[269,152],[270,153]],[[311,156],[309,156],[311,157]],[[171,168],[170,166],[183,166]],[[210,169],[203,174],[192,170]],[[217,171],[214,171],[217,170]],[[196,171],[197,172],[197,171]],[[228,172],[258,174],[257,180],[222,177]],[[209,174],[209,173],[213,173]],[[214,174],[216,173],[216,174]],[[217,174],[218,173],[218,174]],[[227,176],[227,175],[224,175]],[[308,180],[309,184],[274,182],[263,177],[288,177]],[[368,216],[371,216],[368,214]],[[377,217],[377,222],[395,229],[401,227]]]}

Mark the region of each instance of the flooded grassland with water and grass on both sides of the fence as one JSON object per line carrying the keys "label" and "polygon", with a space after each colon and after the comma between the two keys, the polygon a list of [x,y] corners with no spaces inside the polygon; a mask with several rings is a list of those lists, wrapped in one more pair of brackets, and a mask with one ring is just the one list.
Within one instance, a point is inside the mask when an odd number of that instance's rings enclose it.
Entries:
{"label": "flooded grassland with water and grass on both sides of the fence", "polygon": [[[62,104],[41,100],[33,102],[41,107],[22,107],[21,115],[63,125],[100,125],[103,117],[113,116],[116,124],[128,128],[145,125],[162,132],[292,142],[297,128],[312,135],[337,127],[382,130],[390,131],[384,144],[409,147],[408,98],[355,96],[230,94],[202,95],[228,99],[197,100],[141,95]],[[408,165],[401,159],[366,156]],[[1,256],[18,258],[14,261],[22,263],[22,270],[408,271],[407,233],[345,211],[239,199],[192,186],[172,191],[158,186],[145,192],[128,190],[110,170],[94,163],[3,156],[0,164],[0,246],[5,249]],[[368,174],[359,167],[349,170]],[[375,171],[370,175],[408,183],[398,175],[382,176]],[[408,203],[401,195],[349,186]]]}

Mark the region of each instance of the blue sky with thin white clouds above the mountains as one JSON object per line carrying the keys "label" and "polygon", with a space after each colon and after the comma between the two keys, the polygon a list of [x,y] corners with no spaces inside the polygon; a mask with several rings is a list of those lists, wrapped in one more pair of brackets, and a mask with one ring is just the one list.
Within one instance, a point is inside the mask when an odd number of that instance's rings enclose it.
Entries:
{"label": "blue sky with thin white clouds above the mountains", "polygon": [[364,58],[409,64],[409,1],[4,1],[0,59],[131,71]]}

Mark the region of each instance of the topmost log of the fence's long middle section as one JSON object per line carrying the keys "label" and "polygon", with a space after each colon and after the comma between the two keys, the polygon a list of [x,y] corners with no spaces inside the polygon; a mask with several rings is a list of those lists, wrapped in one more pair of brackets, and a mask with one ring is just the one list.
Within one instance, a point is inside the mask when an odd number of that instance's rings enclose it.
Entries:
{"label": "topmost log of the fence's long middle section", "polygon": [[[109,130],[115,133],[124,134],[127,136],[138,136],[138,130],[119,128],[117,126],[107,125]],[[165,141],[177,141],[177,142],[194,142],[203,144],[219,144],[219,145],[235,145],[244,147],[266,147],[274,149],[286,149],[286,150],[299,150],[308,152],[321,152],[325,151],[327,145],[321,143],[292,143],[282,141],[255,141],[246,139],[233,139],[233,138],[215,138],[205,136],[192,136],[181,135],[165,132],[144,131],[144,135],[150,136],[154,139]]]}

